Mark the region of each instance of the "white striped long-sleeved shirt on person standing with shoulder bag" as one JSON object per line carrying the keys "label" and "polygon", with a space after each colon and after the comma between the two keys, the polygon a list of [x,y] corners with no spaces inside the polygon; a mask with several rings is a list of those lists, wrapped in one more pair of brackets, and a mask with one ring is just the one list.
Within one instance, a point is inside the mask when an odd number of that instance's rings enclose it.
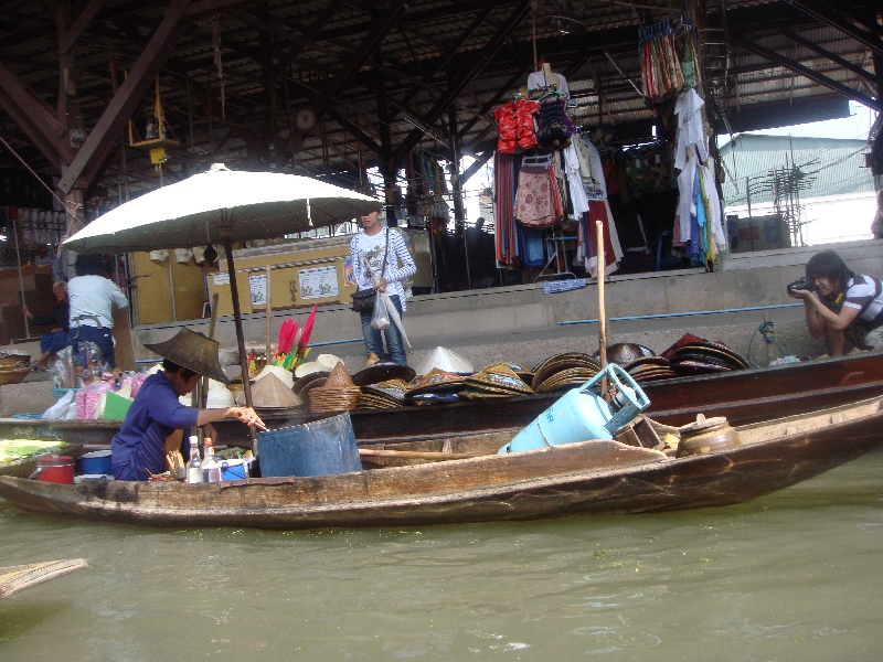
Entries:
{"label": "white striped long-sleeved shirt on person standing with shoulder bag", "polygon": [[[390,257],[386,259],[386,267],[383,267],[383,257],[386,253],[386,234],[390,235]],[[360,232],[350,242],[350,257],[352,258],[352,275],[355,286],[360,290],[372,289],[374,284],[371,279],[372,273],[377,280],[381,277],[386,279],[386,293],[390,296],[398,295],[402,310],[407,310],[405,305],[405,289],[402,280],[417,273],[417,265],[405,246],[405,241],[398,231],[390,232],[389,227],[383,228],[375,235],[366,235]],[[362,257],[368,261],[368,270],[362,264]],[[400,266],[401,265],[401,266]]]}

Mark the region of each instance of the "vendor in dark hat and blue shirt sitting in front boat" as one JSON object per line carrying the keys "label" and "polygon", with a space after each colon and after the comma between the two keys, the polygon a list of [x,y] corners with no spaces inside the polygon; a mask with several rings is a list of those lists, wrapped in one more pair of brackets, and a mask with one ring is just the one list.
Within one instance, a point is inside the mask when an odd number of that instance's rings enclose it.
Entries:
{"label": "vendor in dark hat and blue shirt sitting in front boat", "polygon": [[217,360],[216,341],[182,329],[166,342],[145,346],[162,356],[162,370],[145,380],[110,442],[114,478],[148,480],[166,471],[166,453],[181,449],[187,428],[234,417],[252,427],[264,425],[251,407],[194,409],[179,402],[203,375],[230,383]]}

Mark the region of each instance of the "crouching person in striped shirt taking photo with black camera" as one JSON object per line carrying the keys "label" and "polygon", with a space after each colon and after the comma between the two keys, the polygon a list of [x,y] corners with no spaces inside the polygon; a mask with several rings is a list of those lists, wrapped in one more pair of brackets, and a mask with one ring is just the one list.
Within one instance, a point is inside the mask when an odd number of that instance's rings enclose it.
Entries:
{"label": "crouching person in striped shirt taking photo with black camera", "polygon": [[810,258],[807,279],[815,291],[789,287],[788,296],[804,300],[809,334],[825,334],[830,356],[843,355],[844,341],[883,349],[883,282],[857,276],[833,250]]}

